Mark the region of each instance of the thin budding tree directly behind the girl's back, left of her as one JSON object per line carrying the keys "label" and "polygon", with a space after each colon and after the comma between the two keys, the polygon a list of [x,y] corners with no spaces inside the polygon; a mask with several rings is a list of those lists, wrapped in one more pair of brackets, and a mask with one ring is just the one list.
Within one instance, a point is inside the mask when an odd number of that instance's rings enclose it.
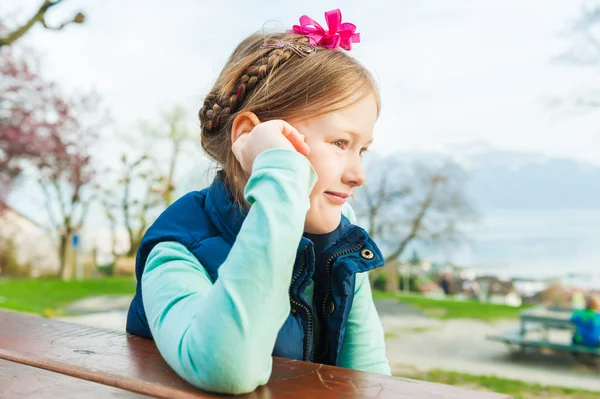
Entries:
{"label": "thin budding tree directly behind the girl's back, left of her", "polygon": [[[121,137],[128,150],[117,168],[104,172],[106,184],[99,187],[101,203],[112,231],[112,255],[135,256],[155,214],[175,199],[178,168],[195,137],[186,125],[186,113],[173,106],[152,124],[142,122],[141,137]],[[196,155],[196,154],[195,154]],[[129,247],[117,250],[116,232],[124,229]]]}

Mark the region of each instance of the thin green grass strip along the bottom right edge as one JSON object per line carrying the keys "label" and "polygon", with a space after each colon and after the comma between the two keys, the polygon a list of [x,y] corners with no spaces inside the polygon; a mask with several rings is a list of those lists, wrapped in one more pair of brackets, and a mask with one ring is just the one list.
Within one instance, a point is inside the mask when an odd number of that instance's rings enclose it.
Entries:
{"label": "thin green grass strip along the bottom right edge", "polygon": [[598,399],[600,392],[561,388],[532,384],[518,380],[508,380],[492,376],[477,376],[453,371],[431,370],[428,372],[406,371],[394,374],[397,377],[412,378],[440,384],[457,385],[480,391],[492,391],[512,396],[514,399]]}

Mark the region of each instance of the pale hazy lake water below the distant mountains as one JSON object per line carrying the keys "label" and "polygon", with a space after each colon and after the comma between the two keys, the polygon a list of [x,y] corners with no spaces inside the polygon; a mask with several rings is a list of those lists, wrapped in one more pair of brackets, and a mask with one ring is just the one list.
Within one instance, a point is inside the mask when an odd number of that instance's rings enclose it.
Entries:
{"label": "pale hazy lake water below the distant mountains", "polygon": [[[600,288],[600,209],[482,212],[467,242],[423,248],[433,260],[502,276],[561,277]],[[593,278],[566,279],[586,273]]]}

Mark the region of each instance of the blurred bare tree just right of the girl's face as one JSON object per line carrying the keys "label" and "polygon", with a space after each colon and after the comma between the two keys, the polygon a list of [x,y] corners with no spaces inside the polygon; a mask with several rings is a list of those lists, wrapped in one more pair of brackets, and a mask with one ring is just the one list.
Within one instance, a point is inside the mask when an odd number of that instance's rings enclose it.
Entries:
{"label": "blurred bare tree just right of the girl's face", "polygon": [[393,158],[372,163],[357,196],[357,213],[384,252],[386,291],[398,290],[397,261],[412,242],[451,241],[474,216],[466,174],[455,163],[424,165]]}

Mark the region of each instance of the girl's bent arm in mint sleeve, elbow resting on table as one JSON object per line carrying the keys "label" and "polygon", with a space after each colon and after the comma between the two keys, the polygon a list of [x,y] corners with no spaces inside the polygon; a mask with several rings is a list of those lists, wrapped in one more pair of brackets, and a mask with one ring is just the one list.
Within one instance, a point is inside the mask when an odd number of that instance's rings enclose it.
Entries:
{"label": "girl's bent arm in mint sleeve, elbow resting on table", "polygon": [[214,284],[182,245],[151,252],[142,277],[150,330],[167,363],[191,384],[239,394],[268,381],[316,178],[291,150],[255,159],[245,190],[252,206]]}

